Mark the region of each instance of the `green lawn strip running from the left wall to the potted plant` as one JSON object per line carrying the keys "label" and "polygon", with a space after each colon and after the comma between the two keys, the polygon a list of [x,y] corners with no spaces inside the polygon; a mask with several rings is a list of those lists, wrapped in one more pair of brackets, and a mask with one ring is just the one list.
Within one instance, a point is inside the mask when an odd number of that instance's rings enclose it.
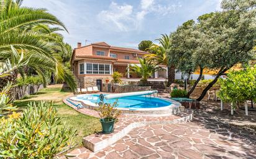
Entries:
{"label": "green lawn strip running from the left wall to the potted plant", "polygon": [[62,88],[62,85],[50,85],[34,95],[14,101],[14,105],[22,110],[30,102],[39,102],[40,100],[53,101],[55,108],[57,108],[58,116],[62,118],[63,126],[73,127],[78,130],[75,142],[81,145],[83,137],[101,131],[101,124],[98,118],[78,113],[70,106],[65,105],[62,99],[70,95],[70,93],[70,90]]}

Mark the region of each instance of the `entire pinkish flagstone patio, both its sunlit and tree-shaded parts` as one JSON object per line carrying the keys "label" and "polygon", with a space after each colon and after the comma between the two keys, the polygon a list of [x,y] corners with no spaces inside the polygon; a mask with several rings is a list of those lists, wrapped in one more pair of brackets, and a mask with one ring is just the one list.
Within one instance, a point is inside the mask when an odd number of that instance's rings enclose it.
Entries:
{"label": "entire pinkish flagstone patio, both its sunlit and tree-shaded parts", "polygon": [[[97,116],[93,110],[79,111]],[[219,102],[203,101],[192,122],[135,127],[103,150],[76,148],[66,158],[256,158],[255,132],[242,124],[254,126],[255,118],[254,112],[244,116],[242,110],[231,116],[228,105],[221,111]]]}

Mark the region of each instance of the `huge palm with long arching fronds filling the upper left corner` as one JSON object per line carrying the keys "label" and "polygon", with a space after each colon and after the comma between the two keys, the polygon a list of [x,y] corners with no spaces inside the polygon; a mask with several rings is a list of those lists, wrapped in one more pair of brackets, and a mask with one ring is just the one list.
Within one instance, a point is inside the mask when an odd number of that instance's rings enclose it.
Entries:
{"label": "huge palm with long arching fronds filling the upper left corner", "polygon": [[55,31],[66,30],[65,25],[45,9],[22,7],[21,2],[0,0],[0,61],[11,59],[12,45],[19,53],[24,52],[24,60],[29,59],[25,66],[16,69],[17,72],[23,74],[24,67],[31,67],[44,81],[45,71],[55,72],[56,80],[67,82],[75,90],[76,79],[63,66],[62,58],[56,51],[62,48],[63,37]]}

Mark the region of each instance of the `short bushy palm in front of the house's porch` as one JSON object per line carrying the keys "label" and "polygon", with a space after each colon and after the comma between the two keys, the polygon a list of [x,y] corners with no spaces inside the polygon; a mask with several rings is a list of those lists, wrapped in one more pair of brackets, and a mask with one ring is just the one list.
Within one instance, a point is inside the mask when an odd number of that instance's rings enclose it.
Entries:
{"label": "short bushy palm in front of the house's porch", "polygon": [[160,68],[158,66],[155,66],[155,64],[153,64],[152,61],[148,61],[145,58],[140,58],[139,62],[140,66],[129,66],[129,71],[138,74],[140,77],[142,77],[142,79],[140,80],[140,82],[142,82],[142,85],[148,85],[147,79],[149,79],[153,72],[158,71]]}

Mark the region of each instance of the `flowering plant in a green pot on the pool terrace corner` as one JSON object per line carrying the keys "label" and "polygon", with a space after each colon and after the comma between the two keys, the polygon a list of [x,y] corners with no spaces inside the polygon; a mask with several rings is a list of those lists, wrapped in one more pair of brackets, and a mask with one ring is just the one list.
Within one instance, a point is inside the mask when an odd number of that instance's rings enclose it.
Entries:
{"label": "flowering plant in a green pot on the pool terrace corner", "polygon": [[96,108],[101,119],[101,126],[103,127],[103,134],[110,134],[114,131],[114,123],[118,122],[118,117],[121,114],[120,110],[117,110],[117,101],[112,105],[110,103],[99,103],[99,107]]}

